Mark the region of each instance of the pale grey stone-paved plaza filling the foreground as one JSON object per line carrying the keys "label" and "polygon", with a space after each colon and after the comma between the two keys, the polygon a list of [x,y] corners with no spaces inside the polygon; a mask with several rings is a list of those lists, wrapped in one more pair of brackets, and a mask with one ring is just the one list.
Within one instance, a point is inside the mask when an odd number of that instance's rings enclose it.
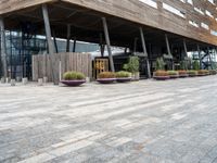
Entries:
{"label": "pale grey stone-paved plaza filling the foreground", "polygon": [[0,162],[217,163],[217,77],[0,84]]}

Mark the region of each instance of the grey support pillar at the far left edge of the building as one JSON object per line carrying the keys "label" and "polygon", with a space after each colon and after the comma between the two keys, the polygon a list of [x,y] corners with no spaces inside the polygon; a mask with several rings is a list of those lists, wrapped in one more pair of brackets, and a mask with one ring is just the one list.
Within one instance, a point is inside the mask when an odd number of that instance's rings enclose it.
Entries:
{"label": "grey support pillar at the far left edge of the building", "polygon": [[0,32],[1,32],[1,65],[2,65],[2,75],[4,78],[8,77],[7,68],[7,42],[5,42],[5,30],[3,17],[0,17]]}

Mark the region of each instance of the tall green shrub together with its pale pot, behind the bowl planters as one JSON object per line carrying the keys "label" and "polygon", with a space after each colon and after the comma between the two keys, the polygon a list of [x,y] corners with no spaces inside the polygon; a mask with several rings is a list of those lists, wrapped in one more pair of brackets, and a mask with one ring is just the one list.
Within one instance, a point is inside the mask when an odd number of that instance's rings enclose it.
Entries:
{"label": "tall green shrub together with its pale pot, behind the bowl planters", "polygon": [[140,79],[139,58],[130,57],[129,62],[124,65],[124,70],[131,73],[131,77],[133,80],[139,80]]}

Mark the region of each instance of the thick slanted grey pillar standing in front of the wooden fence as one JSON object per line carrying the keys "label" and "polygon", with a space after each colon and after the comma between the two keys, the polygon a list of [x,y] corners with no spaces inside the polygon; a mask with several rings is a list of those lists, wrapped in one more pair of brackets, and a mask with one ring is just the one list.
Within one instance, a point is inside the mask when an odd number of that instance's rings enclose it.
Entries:
{"label": "thick slanted grey pillar standing in front of the wooden fence", "polygon": [[[49,22],[49,14],[48,14],[48,8],[46,4],[42,4],[42,14],[43,14],[43,21],[44,21],[44,27],[46,27],[46,36],[47,36],[47,41],[48,41],[48,50],[49,54],[53,55],[54,54],[54,48],[53,48],[53,41],[51,39],[51,27],[50,27],[50,22]],[[51,58],[51,72],[52,72],[52,77],[53,77],[53,83],[54,85],[59,85],[59,77],[56,76],[56,72],[54,68],[59,67],[56,65],[56,61],[54,58]]]}

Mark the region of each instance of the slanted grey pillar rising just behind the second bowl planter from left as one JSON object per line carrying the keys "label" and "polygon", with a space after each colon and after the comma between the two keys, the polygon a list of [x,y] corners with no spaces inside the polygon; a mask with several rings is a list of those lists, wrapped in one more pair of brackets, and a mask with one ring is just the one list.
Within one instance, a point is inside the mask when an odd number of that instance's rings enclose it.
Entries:
{"label": "slanted grey pillar rising just behind the second bowl planter from left", "polygon": [[103,28],[104,28],[105,41],[106,41],[106,46],[107,46],[111,71],[115,72],[115,66],[114,66],[114,61],[113,61],[113,55],[112,55],[112,49],[111,49],[111,42],[110,42],[110,34],[108,34],[107,22],[106,22],[105,17],[102,17],[102,23],[103,23]]}

